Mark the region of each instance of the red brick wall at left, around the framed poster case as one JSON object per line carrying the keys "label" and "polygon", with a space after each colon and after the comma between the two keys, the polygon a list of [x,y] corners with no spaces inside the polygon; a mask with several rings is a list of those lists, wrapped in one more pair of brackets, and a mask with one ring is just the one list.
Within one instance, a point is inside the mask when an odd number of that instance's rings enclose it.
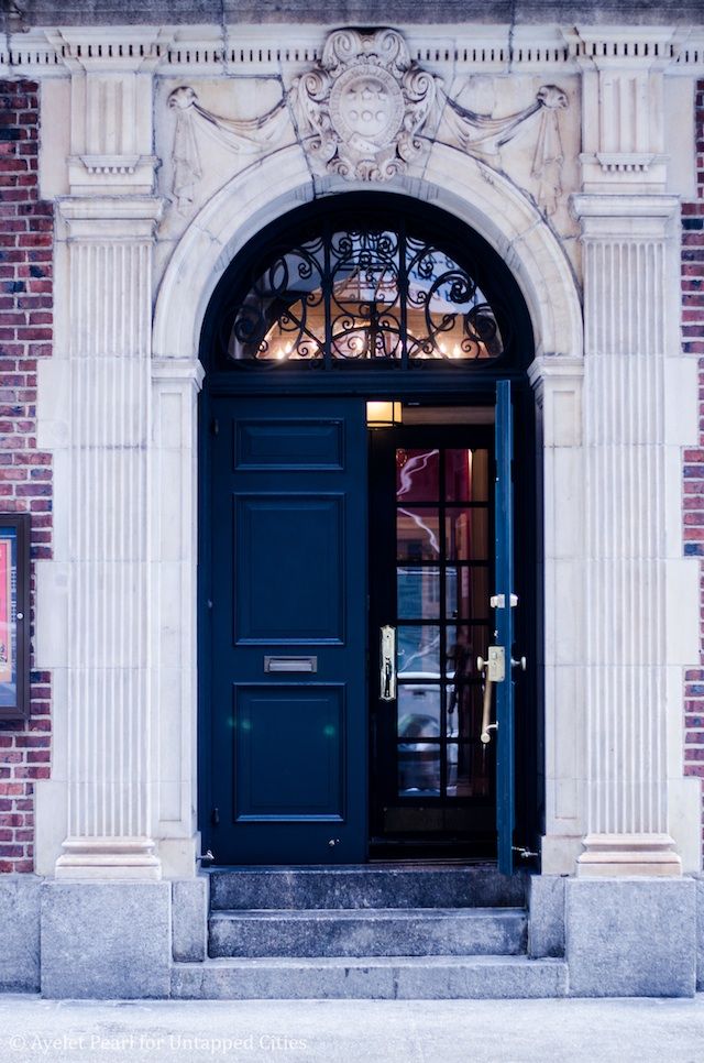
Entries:
{"label": "red brick wall at left, around the framed poster case", "polygon": [[[48,558],[52,459],[36,446],[36,363],[52,353],[54,218],[38,198],[38,86],[0,80],[0,512],[31,513],[32,558]],[[34,581],[32,572],[32,603]],[[28,723],[0,721],[0,872],[34,867],[34,780],[50,775],[50,679],[32,672]]]}

